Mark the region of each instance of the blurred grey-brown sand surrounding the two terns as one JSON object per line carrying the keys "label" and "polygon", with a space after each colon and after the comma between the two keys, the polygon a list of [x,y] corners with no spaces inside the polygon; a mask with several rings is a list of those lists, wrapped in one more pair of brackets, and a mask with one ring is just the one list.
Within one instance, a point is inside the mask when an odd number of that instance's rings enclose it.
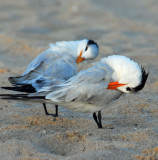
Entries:
{"label": "blurred grey-brown sand surrounding the two terns", "polygon": [[60,107],[54,119],[42,104],[0,100],[0,160],[158,159],[157,0],[1,0],[0,86],[49,43],[83,38],[98,42],[96,61],[121,54],[145,65],[148,84],[105,106],[103,129],[90,114]]}

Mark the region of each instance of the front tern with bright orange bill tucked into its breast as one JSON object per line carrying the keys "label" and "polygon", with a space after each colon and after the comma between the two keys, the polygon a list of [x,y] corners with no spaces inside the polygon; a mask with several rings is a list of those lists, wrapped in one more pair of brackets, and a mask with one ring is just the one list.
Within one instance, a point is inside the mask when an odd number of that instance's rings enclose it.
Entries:
{"label": "front tern with bright orange bill tucked into its breast", "polygon": [[75,112],[93,113],[98,128],[102,128],[101,110],[123,94],[142,90],[148,74],[143,66],[128,57],[112,55],[102,58],[62,84],[46,86],[40,92],[27,95],[0,96],[3,99],[49,102]]}

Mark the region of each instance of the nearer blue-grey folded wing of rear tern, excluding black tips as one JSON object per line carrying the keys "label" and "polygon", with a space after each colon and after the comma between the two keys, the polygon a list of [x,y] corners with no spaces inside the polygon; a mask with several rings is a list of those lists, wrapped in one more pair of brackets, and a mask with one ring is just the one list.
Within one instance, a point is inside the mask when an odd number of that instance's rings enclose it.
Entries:
{"label": "nearer blue-grey folded wing of rear tern, excluding black tips", "polygon": [[38,91],[42,87],[60,84],[75,75],[76,72],[77,66],[71,62],[71,58],[44,60],[36,69],[27,74],[29,78],[23,83],[31,83]]}

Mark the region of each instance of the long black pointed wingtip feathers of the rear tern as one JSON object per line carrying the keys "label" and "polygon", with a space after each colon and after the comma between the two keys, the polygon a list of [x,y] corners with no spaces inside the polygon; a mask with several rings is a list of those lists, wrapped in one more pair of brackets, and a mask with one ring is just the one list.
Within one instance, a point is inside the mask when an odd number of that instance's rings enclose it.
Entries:
{"label": "long black pointed wingtip feathers of the rear tern", "polygon": [[36,90],[31,84],[25,84],[17,87],[1,87],[6,90],[19,91],[19,92],[27,92],[27,93],[35,93]]}

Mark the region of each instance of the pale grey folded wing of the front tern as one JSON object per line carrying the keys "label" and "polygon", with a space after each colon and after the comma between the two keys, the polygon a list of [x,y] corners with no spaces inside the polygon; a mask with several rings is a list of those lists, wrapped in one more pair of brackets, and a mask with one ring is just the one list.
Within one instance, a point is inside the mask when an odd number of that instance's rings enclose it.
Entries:
{"label": "pale grey folded wing of the front tern", "polygon": [[95,65],[70,78],[66,83],[52,87],[46,99],[54,102],[91,101],[107,91],[111,69],[105,64]]}

